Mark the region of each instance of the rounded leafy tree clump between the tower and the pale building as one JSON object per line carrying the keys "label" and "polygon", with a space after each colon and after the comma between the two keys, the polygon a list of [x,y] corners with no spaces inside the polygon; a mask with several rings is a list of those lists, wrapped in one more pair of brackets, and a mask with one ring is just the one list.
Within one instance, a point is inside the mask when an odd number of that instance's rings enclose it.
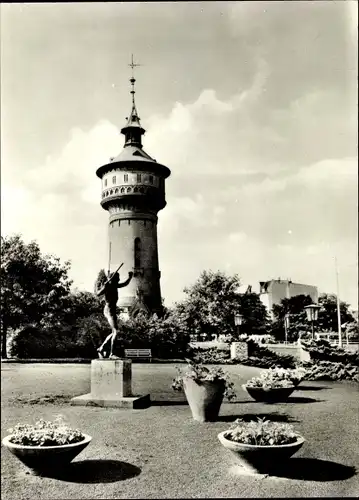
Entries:
{"label": "rounded leafy tree clump between the tower and the pale building", "polygon": [[197,281],[184,289],[187,297],[175,305],[176,313],[194,334],[236,337],[234,314],[243,316],[240,333],[264,333],[268,318],[265,306],[255,293],[241,294],[237,274],[203,271]]}

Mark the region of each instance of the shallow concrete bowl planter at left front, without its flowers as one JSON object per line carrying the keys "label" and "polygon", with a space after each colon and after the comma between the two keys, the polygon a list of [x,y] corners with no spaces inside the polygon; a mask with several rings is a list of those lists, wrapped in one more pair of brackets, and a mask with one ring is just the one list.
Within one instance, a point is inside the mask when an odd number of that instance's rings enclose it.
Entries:
{"label": "shallow concrete bowl planter at left front, without its flowers", "polygon": [[2,444],[23,464],[31,469],[33,474],[56,472],[68,465],[86,446],[92,437],[84,434],[84,439],[78,443],[59,446],[23,446],[11,443],[11,435],[2,440]]}

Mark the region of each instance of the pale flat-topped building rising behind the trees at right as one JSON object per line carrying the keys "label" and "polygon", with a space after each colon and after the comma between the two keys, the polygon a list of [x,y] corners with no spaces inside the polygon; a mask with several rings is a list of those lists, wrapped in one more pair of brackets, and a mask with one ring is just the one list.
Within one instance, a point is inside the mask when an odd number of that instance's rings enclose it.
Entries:
{"label": "pale flat-topped building rising behind the trees at right", "polygon": [[282,299],[290,299],[297,295],[309,295],[314,303],[318,302],[318,288],[313,285],[293,283],[291,280],[260,281],[259,297],[273,319],[273,306],[280,304]]}

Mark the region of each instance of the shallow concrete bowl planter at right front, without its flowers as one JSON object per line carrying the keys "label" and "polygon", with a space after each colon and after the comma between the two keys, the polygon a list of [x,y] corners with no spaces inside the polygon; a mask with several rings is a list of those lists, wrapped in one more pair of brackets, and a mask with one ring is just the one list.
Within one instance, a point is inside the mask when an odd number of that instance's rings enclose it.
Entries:
{"label": "shallow concrete bowl planter at right front, without its flowers", "polygon": [[229,431],[220,432],[218,439],[237,458],[239,465],[247,472],[254,474],[265,474],[270,472],[273,466],[280,466],[296,453],[305,441],[300,437],[294,443],[274,446],[256,446],[251,444],[237,443],[225,436]]}

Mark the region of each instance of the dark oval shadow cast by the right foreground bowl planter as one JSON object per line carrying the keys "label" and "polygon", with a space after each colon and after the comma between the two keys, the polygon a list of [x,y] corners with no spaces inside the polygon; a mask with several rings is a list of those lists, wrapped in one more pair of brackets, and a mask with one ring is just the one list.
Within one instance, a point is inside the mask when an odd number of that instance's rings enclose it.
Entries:
{"label": "dark oval shadow cast by the right foreground bowl planter", "polygon": [[356,474],[355,467],[318,460],[316,458],[291,458],[285,463],[275,465],[271,476],[304,481],[343,481]]}

